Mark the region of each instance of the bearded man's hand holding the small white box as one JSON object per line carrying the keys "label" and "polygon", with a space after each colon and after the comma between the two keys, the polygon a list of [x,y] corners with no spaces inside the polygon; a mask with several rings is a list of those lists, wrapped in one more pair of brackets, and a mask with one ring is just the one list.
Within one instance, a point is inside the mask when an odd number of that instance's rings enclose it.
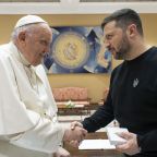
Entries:
{"label": "bearded man's hand holding the small white box", "polygon": [[140,153],[140,147],[137,145],[137,138],[136,134],[129,133],[129,132],[122,132],[118,134],[119,136],[126,140],[126,143],[117,145],[117,150],[128,154],[128,155],[135,155]]}

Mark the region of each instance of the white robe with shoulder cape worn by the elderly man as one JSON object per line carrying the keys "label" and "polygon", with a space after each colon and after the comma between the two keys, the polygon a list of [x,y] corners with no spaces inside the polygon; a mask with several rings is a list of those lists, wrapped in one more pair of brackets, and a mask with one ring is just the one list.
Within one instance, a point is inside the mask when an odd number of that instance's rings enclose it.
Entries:
{"label": "white robe with shoulder cape worn by the elderly man", "polygon": [[0,157],[48,157],[62,141],[43,65],[29,67],[13,43],[0,47]]}

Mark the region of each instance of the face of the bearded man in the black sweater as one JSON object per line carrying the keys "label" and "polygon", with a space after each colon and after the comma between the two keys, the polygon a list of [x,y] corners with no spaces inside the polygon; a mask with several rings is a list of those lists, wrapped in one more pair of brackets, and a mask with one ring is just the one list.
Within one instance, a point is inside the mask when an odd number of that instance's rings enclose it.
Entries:
{"label": "face of the bearded man in the black sweater", "polygon": [[116,26],[116,22],[109,22],[104,28],[105,44],[116,59],[125,59],[131,49],[126,33]]}

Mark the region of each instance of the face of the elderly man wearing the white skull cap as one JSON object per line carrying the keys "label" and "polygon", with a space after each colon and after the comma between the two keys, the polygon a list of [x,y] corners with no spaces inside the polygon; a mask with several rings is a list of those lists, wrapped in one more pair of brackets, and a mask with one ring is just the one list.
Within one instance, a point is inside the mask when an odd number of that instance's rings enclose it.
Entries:
{"label": "face of the elderly man wearing the white skull cap", "polygon": [[45,23],[37,24],[25,33],[22,52],[32,65],[43,62],[44,56],[50,50],[51,39],[51,29]]}

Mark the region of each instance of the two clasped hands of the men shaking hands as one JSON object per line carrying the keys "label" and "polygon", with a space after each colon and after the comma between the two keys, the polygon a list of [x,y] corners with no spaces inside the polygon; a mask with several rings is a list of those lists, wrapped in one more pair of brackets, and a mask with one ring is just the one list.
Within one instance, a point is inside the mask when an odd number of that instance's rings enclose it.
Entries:
{"label": "two clasped hands of the men shaking hands", "polygon": [[74,147],[78,147],[80,143],[85,138],[87,131],[83,129],[83,124],[74,121],[70,129],[64,131],[63,142],[70,143]]}

